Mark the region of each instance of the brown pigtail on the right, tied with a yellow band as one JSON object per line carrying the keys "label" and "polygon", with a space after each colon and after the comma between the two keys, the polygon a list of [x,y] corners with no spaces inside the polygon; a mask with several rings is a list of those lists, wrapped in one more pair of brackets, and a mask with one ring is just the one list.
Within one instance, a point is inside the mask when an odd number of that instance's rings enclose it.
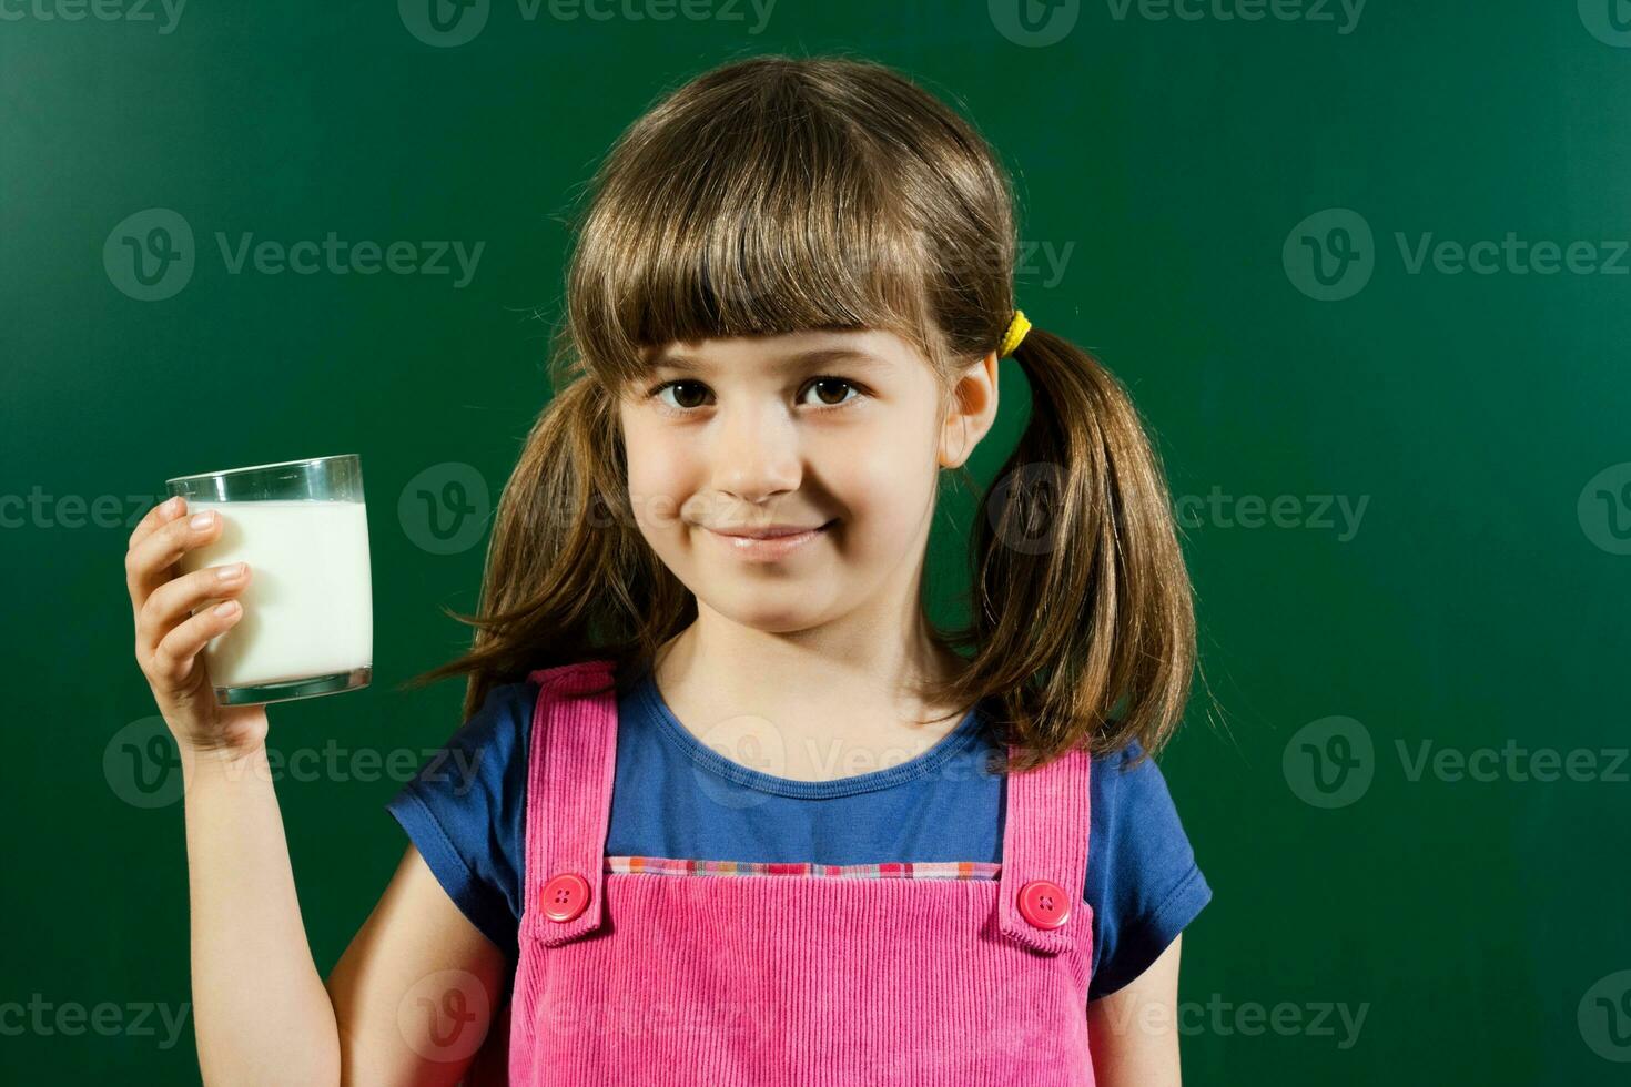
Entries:
{"label": "brown pigtail on the right, tied with a yellow band", "polygon": [[[998,691],[1011,771],[1178,727],[1196,665],[1189,574],[1160,458],[1120,383],[1032,328],[1013,352],[1031,419],[974,528],[977,654],[959,684]],[[959,639],[962,640],[962,639]]]}

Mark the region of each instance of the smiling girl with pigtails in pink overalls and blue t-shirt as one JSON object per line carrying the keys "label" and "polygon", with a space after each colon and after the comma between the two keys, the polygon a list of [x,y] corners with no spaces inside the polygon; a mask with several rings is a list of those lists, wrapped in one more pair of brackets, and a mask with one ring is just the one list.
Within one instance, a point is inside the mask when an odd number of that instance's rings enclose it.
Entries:
{"label": "smiling girl with pigtails in pink overalls and blue t-shirt", "polygon": [[[1161,469],[1117,381],[1013,298],[1010,181],[874,64],[757,57],[664,98],[577,223],[558,391],[499,504],[465,725],[323,981],[264,707],[215,706],[130,539],[186,774],[210,1084],[1178,1084],[1209,901],[1150,755],[1194,667]],[[1031,388],[923,614],[939,473]],[[460,774],[457,768],[475,768]]]}

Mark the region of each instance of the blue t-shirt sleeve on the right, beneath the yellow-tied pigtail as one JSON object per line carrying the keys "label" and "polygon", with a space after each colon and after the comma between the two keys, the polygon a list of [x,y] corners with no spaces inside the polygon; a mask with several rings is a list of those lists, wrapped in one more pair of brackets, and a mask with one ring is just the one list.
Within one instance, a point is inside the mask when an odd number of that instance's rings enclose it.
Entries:
{"label": "blue t-shirt sleeve on the right, beneath the yellow-tied pigtail", "polygon": [[1142,975],[1212,901],[1155,759],[1129,766],[1140,751],[1132,742],[1093,761],[1085,891],[1093,904],[1090,1001]]}

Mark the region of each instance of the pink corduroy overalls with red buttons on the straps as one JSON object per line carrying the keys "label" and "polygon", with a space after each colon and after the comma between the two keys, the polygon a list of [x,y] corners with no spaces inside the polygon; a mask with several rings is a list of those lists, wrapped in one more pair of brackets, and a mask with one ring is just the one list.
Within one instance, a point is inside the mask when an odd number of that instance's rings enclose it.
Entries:
{"label": "pink corduroy overalls with red buttons on the straps", "polygon": [[1091,1087],[1086,753],[1010,776],[992,878],[607,872],[612,668],[530,676],[511,1084]]}

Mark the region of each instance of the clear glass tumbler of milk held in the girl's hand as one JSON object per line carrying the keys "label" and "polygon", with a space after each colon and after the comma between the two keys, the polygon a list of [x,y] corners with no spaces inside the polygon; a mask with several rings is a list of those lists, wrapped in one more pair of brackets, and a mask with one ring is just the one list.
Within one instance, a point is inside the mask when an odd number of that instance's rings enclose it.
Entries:
{"label": "clear glass tumbler of milk held in the girl's hand", "polygon": [[[189,574],[250,564],[243,618],[204,647],[222,706],[356,691],[373,678],[373,585],[356,453],[165,481],[188,515],[215,510],[215,543],[181,556]],[[220,601],[209,600],[194,613]]]}

